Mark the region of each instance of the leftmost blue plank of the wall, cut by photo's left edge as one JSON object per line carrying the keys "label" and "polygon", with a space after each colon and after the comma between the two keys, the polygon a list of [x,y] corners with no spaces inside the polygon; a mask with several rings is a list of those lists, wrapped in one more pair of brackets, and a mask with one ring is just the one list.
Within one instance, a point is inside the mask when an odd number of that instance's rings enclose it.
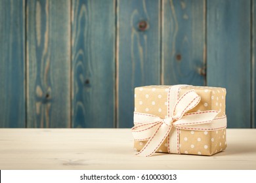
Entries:
{"label": "leftmost blue plank of the wall, cut by photo's left edge", "polygon": [[0,127],[25,127],[25,1],[0,1]]}

